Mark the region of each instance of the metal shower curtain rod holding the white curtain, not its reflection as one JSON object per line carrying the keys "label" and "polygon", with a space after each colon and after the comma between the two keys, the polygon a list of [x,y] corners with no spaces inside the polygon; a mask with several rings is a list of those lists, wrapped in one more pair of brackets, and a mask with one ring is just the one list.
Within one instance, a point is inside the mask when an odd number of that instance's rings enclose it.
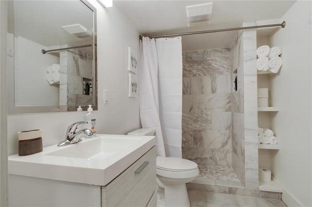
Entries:
{"label": "metal shower curtain rod holding the white curtain, not its reflection", "polygon": [[[266,25],[258,25],[258,26],[249,26],[249,27],[235,27],[228,29],[219,29],[219,30],[206,30],[206,31],[198,31],[198,32],[188,32],[188,33],[176,33],[176,34],[168,34],[168,35],[148,35],[147,37],[170,37],[170,36],[183,36],[183,35],[196,35],[196,34],[205,34],[205,33],[217,33],[217,32],[226,32],[233,30],[248,30],[248,29],[256,29],[256,28],[264,28],[264,27],[282,27],[284,28],[286,22],[283,21],[280,24],[266,24]],[[142,39],[143,35],[140,35],[139,38]]]}

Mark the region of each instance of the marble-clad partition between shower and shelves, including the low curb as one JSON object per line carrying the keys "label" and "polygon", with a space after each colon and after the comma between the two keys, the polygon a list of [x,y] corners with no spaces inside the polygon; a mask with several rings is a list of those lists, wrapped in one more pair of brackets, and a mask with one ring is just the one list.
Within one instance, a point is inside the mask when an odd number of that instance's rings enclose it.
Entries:
{"label": "marble-clad partition between shower and shelves, including the low curb", "polygon": [[[243,24],[254,25],[254,22]],[[232,81],[236,75],[238,81],[238,90],[231,94],[232,167],[245,188],[188,183],[187,189],[281,199],[281,193],[258,190],[256,31],[243,31],[235,37],[231,68],[237,69],[237,73],[232,73]],[[239,177],[242,175],[243,179]]]}

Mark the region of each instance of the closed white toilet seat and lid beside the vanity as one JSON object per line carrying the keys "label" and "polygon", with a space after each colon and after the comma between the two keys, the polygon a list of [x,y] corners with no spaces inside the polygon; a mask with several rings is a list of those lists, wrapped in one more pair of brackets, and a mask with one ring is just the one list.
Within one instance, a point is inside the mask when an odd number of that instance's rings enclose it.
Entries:
{"label": "closed white toilet seat and lid beside the vanity", "polygon": [[167,178],[191,178],[199,174],[195,162],[177,157],[156,157],[156,174]]}

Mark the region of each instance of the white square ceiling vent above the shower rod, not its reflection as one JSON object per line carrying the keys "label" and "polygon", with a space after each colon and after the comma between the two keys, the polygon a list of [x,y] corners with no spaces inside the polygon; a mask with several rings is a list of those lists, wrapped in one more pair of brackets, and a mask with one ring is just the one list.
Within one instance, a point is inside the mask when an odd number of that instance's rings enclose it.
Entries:
{"label": "white square ceiling vent above the shower rod, not its reflection", "polygon": [[213,2],[186,7],[189,27],[205,26],[210,24]]}

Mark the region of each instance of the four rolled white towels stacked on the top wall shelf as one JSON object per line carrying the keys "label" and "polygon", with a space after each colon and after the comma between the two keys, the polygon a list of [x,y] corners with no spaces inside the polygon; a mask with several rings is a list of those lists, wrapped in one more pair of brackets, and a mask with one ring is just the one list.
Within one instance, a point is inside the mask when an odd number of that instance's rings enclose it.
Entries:
{"label": "four rolled white towels stacked on the top wall shelf", "polygon": [[282,67],[282,48],[262,45],[257,49],[257,70],[277,73]]}

